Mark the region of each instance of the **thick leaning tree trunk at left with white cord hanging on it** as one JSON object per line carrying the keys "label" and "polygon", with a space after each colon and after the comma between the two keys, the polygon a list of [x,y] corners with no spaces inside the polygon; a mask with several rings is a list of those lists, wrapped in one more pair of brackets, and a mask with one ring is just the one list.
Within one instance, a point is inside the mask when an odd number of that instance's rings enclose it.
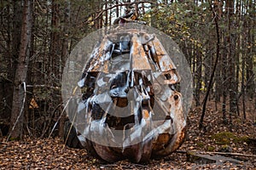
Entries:
{"label": "thick leaning tree trunk at left with white cord hanging on it", "polygon": [[11,113],[12,131],[9,137],[20,139],[23,133],[24,99],[26,97],[26,76],[31,48],[32,6],[30,0],[24,1],[21,28],[20,53],[15,71],[15,88]]}

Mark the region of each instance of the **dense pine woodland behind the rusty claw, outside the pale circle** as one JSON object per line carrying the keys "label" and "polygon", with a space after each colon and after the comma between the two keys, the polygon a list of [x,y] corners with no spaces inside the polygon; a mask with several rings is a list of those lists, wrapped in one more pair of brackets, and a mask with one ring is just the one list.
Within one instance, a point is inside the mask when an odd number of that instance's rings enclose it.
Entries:
{"label": "dense pine woodland behind the rusty claw, outside the pale circle", "polygon": [[135,10],[177,42],[193,74],[204,127],[209,101],[224,124],[256,122],[255,0],[1,0],[1,136],[63,135],[61,74],[73,47]]}

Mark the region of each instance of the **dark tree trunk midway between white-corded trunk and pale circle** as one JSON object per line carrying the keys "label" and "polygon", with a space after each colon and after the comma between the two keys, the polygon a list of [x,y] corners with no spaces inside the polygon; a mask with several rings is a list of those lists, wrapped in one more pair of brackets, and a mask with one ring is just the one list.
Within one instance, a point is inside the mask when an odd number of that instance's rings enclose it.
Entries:
{"label": "dark tree trunk midway between white-corded trunk and pale circle", "polygon": [[[49,87],[61,86],[61,26],[60,26],[60,2],[53,0],[51,3],[51,35],[49,44],[49,71],[47,82]],[[56,107],[61,103],[61,93],[56,88],[49,88],[49,99],[44,130],[40,138],[43,138],[46,133],[50,132],[51,125],[54,124],[54,119],[57,119],[59,110]]]}

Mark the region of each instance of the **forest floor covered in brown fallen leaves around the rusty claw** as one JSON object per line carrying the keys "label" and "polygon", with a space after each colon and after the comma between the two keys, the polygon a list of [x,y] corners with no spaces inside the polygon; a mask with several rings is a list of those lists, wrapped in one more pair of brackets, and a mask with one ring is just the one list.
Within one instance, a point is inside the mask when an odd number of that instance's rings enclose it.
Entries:
{"label": "forest floor covered in brown fallen leaves around the rusty claw", "polygon": [[[188,133],[179,152],[147,164],[118,161],[108,164],[89,156],[86,150],[68,148],[62,139],[0,140],[0,169],[256,169],[255,120],[243,121],[233,116],[232,125],[224,125],[220,111],[207,110],[204,129],[198,129],[201,109],[189,113]],[[254,125],[254,126],[253,126]],[[242,156],[241,162],[222,161],[196,164],[187,161],[183,151],[230,151]]]}

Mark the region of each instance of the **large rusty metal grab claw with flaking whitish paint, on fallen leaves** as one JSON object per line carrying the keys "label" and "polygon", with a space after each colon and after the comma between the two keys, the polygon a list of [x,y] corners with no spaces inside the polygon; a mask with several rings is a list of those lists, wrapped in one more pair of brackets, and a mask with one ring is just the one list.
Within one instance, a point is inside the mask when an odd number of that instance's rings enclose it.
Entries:
{"label": "large rusty metal grab claw with flaking whitish paint, on fallen leaves", "polygon": [[186,117],[174,88],[180,77],[154,34],[110,32],[83,75],[74,125],[91,154],[109,162],[143,162],[168,156],[183,143]]}

